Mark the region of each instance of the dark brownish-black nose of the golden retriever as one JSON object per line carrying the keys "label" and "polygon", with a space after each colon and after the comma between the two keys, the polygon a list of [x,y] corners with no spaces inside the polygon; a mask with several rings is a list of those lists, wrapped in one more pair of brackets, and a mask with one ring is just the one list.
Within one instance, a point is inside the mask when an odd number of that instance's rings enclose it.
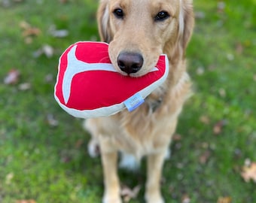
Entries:
{"label": "dark brownish-black nose of the golden retriever", "polygon": [[122,52],[117,57],[117,65],[126,74],[136,73],[142,68],[143,57],[140,53]]}

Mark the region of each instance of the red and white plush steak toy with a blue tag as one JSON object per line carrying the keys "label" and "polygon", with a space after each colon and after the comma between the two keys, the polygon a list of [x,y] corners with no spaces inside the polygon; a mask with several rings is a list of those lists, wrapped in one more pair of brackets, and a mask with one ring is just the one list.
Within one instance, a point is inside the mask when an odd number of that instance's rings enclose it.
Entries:
{"label": "red and white plush steak toy with a blue tag", "polygon": [[166,55],[142,77],[118,73],[108,56],[108,44],[81,41],[59,59],[54,96],[74,117],[107,117],[127,108],[133,111],[168,75]]}

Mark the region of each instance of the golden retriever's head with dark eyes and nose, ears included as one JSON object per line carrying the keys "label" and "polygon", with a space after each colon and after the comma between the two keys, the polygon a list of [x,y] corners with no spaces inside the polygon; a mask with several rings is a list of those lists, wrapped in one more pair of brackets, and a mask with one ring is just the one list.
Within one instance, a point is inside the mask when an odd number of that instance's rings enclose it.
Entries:
{"label": "golden retriever's head with dark eyes and nose, ears included", "polygon": [[194,26],[193,0],[101,0],[99,35],[121,74],[139,77],[156,65],[184,55]]}

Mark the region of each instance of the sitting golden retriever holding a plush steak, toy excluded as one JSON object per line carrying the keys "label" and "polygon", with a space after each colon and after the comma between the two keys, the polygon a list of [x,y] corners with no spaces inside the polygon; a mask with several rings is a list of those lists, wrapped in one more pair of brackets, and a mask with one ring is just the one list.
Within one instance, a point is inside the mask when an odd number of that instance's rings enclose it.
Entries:
{"label": "sitting golden retriever holding a plush steak, toy excluded", "polygon": [[169,59],[166,81],[135,111],[85,121],[92,138],[91,156],[100,151],[104,203],[120,203],[117,176],[121,165],[147,159],[145,200],[163,203],[160,179],[163,162],[175,132],[178,115],[189,97],[191,83],[184,59],[194,27],[193,0],[101,0],[97,13],[99,34],[109,43],[111,62],[120,74],[140,77],[151,71],[160,54]]}

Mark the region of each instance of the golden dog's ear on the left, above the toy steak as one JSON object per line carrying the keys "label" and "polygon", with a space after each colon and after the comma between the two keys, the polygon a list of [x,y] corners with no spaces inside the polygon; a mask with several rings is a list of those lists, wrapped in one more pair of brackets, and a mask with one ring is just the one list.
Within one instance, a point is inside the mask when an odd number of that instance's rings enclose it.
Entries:
{"label": "golden dog's ear on the left, above the toy steak", "polygon": [[101,0],[99,2],[97,21],[101,41],[109,43],[111,41],[111,33],[109,28],[108,0]]}

